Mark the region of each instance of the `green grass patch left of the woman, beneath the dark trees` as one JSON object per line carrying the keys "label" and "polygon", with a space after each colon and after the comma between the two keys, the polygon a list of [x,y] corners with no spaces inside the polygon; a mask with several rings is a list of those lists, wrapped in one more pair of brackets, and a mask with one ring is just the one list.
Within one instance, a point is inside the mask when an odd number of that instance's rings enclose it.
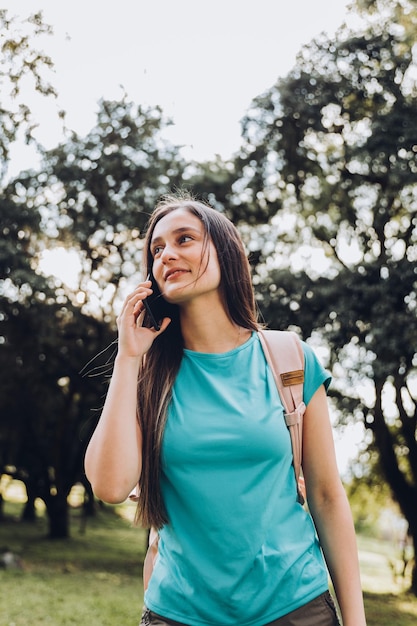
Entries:
{"label": "green grass patch left of the woman, beneath the dark trees", "polygon": [[0,547],[18,554],[23,569],[0,569],[0,626],[139,624],[143,530],[106,507],[82,534],[74,510],[71,539],[50,541],[43,517],[20,523],[17,507],[6,502],[5,508]]}

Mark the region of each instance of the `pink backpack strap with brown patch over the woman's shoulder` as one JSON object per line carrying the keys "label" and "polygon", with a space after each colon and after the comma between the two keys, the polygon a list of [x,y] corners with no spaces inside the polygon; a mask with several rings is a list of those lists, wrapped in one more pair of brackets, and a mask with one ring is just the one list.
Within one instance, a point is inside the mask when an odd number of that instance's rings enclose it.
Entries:
{"label": "pink backpack strap with brown patch over the woman's shoulder", "polygon": [[260,330],[265,358],[272,370],[274,380],[284,405],[285,423],[291,437],[293,465],[297,484],[297,500],[304,504],[300,488],[303,416],[304,352],[298,335],[292,331]]}

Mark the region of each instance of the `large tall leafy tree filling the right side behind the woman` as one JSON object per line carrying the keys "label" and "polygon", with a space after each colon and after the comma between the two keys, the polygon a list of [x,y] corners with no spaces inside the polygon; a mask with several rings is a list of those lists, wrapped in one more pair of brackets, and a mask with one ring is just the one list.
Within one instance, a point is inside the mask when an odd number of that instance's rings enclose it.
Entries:
{"label": "large tall leafy tree filling the right side behind the woman", "polygon": [[330,346],[338,410],[370,433],[417,554],[417,15],[365,4],[376,17],[311,42],[253,102],[235,188],[266,224],[266,320]]}

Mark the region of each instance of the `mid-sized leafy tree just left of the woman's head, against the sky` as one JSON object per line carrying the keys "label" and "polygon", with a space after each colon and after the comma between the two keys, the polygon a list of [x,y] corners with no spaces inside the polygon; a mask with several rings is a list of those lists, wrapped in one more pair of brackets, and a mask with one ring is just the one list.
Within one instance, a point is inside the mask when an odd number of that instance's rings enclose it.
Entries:
{"label": "mid-sized leafy tree just left of the woman's head, against the sky", "polygon": [[101,101],[96,126],[44,155],[41,172],[16,180],[47,216],[48,247],[79,257],[83,310],[114,322],[119,287],[140,274],[141,235],[156,200],[181,186],[185,164],[162,138],[159,107]]}

